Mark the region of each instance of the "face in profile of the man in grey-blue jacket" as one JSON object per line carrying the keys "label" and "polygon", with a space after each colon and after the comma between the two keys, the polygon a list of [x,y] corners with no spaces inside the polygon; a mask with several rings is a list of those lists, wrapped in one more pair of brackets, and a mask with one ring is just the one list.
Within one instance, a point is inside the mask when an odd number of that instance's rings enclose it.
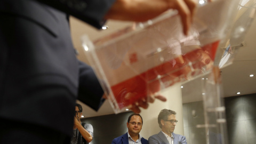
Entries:
{"label": "face in profile of the man in grey-blue jacket", "polygon": [[[171,134],[173,133],[174,129],[175,129],[175,125],[176,123],[171,123],[170,121],[176,121],[176,116],[175,115],[170,115],[168,116],[168,121],[164,121],[163,119],[161,120],[161,124],[162,124],[162,131],[166,134]],[[170,121],[169,121],[170,120]]]}

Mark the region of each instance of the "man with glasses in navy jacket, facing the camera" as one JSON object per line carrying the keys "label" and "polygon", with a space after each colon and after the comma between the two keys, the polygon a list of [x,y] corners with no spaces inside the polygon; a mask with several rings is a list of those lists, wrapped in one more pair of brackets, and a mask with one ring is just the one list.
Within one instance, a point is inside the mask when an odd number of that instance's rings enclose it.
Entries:
{"label": "man with glasses in navy jacket, facing the camera", "polygon": [[128,132],[115,138],[112,144],[129,144],[129,143],[142,143],[147,144],[148,140],[141,137],[139,134],[142,129],[143,120],[140,114],[132,114],[129,116],[126,123]]}

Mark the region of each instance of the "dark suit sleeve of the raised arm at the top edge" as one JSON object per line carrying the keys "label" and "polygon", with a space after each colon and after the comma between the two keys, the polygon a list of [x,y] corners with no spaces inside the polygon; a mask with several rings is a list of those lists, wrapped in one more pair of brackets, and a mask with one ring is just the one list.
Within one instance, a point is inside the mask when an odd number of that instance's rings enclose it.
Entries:
{"label": "dark suit sleeve of the raised arm at the top edge", "polygon": [[34,0],[47,4],[60,11],[98,28],[104,25],[105,14],[116,0]]}

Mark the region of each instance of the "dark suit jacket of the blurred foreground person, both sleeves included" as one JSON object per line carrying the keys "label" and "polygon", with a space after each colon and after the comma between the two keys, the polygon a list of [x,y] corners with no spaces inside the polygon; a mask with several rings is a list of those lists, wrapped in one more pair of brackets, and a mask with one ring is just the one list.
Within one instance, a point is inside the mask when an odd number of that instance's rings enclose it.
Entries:
{"label": "dark suit jacket of the blurred foreground person, both sleeves included", "polygon": [[76,59],[67,13],[100,28],[113,2],[0,0],[0,119],[71,135],[77,95],[98,110],[103,91]]}

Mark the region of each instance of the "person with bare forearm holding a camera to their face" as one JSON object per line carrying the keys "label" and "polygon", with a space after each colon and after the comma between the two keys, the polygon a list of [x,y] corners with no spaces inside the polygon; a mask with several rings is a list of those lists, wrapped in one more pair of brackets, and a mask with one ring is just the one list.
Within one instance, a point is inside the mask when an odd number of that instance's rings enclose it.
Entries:
{"label": "person with bare forearm holding a camera to their face", "polygon": [[89,143],[93,139],[93,127],[91,124],[81,123],[83,108],[80,104],[76,103],[74,114],[73,136],[71,137],[70,144]]}

